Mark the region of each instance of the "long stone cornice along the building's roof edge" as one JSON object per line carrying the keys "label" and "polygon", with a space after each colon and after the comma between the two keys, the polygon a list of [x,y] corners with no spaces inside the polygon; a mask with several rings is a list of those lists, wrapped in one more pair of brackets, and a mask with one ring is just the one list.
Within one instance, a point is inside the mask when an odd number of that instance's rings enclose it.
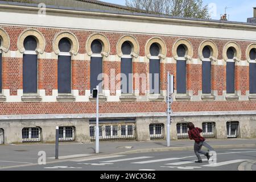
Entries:
{"label": "long stone cornice along the building's roof edge", "polygon": [[[15,12],[15,10],[21,10],[21,11],[34,11],[34,13],[38,13],[39,8],[35,6],[19,6],[19,5],[6,5],[6,4],[0,4],[0,9],[4,9],[5,11],[11,11]],[[256,31],[255,25],[253,24],[246,24],[246,23],[240,23],[240,22],[220,22],[215,20],[197,20],[197,19],[183,19],[183,18],[172,18],[171,16],[156,16],[151,14],[135,14],[135,13],[115,13],[111,12],[108,13],[106,11],[89,11],[89,10],[72,10],[72,9],[60,9],[56,7],[47,7],[48,13],[53,14],[63,14],[65,16],[69,15],[85,15],[85,16],[100,16],[106,17],[106,18],[125,18],[125,19],[133,19],[133,20],[149,20],[151,22],[159,23],[159,22],[166,22],[166,23],[177,23],[185,26],[203,26],[203,27],[212,27],[212,28],[230,28],[230,29],[246,29],[250,31]],[[30,12],[32,13],[32,12]]]}

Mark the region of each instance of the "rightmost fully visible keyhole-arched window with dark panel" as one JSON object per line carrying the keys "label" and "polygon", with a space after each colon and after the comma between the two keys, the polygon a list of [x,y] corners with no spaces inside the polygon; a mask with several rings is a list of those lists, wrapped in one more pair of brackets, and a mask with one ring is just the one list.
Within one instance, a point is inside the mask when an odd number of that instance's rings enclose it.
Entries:
{"label": "rightmost fully visible keyhole-arched window with dark panel", "polygon": [[226,93],[234,94],[235,93],[235,57],[236,49],[233,47],[229,47],[226,55],[228,57],[226,63]]}

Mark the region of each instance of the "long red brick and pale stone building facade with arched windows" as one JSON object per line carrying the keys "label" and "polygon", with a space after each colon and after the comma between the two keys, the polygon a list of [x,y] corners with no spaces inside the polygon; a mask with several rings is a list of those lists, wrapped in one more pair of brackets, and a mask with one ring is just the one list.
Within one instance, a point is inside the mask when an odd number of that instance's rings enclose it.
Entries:
{"label": "long red brick and pale stone building facade with arched windows", "polygon": [[[93,140],[93,59],[104,74],[101,139],[164,138],[168,72],[175,76],[171,139],[187,138],[188,122],[203,127],[206,137],[256,137],[255,24],[54,6],[46,16],[38,11],[35,5],[0,4],[2,143],[53,142],[55,126],[61,140]],[[65,40],[68,51],[61,47]],[[127,42],[131,51],[124,55]],[[34,67],[26,58],[32,55]],[[123,94],[125,59],[132,61],[133,84]],[[148,74],[158,67],[156,93]],[[32,82],[36,92],[29,91]]]}

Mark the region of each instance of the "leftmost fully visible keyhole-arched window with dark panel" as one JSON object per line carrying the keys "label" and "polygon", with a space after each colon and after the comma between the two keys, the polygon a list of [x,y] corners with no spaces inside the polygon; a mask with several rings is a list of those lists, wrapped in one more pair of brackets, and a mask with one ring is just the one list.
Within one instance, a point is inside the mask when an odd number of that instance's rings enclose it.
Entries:
{"label": "leftmost fully visible keyhole-arched window with dark panel", "polygon": [[34,36],[27,36],[23,46],[23,93],[38,92],[38,55],[35,50],[37,42]]}

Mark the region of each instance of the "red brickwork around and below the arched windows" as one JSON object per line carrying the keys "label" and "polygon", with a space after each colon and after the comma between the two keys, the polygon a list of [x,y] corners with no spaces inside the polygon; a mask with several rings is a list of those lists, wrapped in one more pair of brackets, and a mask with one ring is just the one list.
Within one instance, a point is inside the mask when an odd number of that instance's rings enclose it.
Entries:
{"label": "red brickwork around and below the arched windows", "polygon": [[[10,36],[10,50],[17,51],[17,40],[19,35],[28,27],[20,26],[1,26],[6,30]],[[30,27],[35,28],[42,32],[46,39],[46,52],[52,52],[52,41],[55,35],[61,31],[57,28],[44,28],[44,27]],[[77,36],[79,40],[79,53],[86,53],[86,40],[93,34],[93,31],[86,30],[66,30],[70,31]],[[104,34],[110,42],[110,55],[116,55],[116,45],[118,40],[127,34],[118,32],[100,32]],[[129,34],[133,35],[140,46],[140,56],[145,56],[145,46],[149,39],[159,35],[143,35],[143,34]],[[172,47],[176,40],[181,37],[177,36],[160,36],[167,45],[167,57],[172,57]],[[193,47],[193,58],[198,58],[198,49],[205,39],[203,38],[185,38],[191,42]],[[223,39],[210,39],[216,43],[218,47],[218,59],[222,59],[222,49],[225,44],[230,40]],[[247,46],[251,44],[250,41],[234,40],[242,50],[242,60],[245,60],[245,51]],[[22,59],[18,58],[3,58],[2,61],[2,85],[3,89],[10,89],[11,96],[17,94],[18,89],[22,89]],[[115,70],[115,76],[120,73],[120,62],[105,62],[103,64],[104,73],[110,76],[111,69]],[[90,60],[72,60],[72,89],[79,90],[79,94],[84,95],[85,90],[90,88]],[[176,65],[163,64],[160,65],[160,88],[166,89],[167,72],[174,74],[176,78]],[[133,73],[148,74],[148,63],[133,63]],[[226,67],[221,65],[212,65],[212,90],[217,90],[218,95],[222,95],[222,91],[226,90]],[[175,79],[176,80],[176,79]],[[201,90],[202,73],[201,65],[187,65],[187,89],[193,90],[193,94],[197,95]],[[117,84],[119,79],[115,79]],[[39,89],[45,89],[46,95],[52,94],[52,89],[57,89],[57,60],[39,59],[38,60],[38,85]],[[106,85],[110,88],[110,84]],[[144,95],[146,90],[149,89],[148,80],[140,80],[139,84],[134,79],[134,89],[140,90],[140,95]],[[176,81],[175,81],[176,88]],[[236,90],[241,90],[242,95],[246,94],[249,90],[249,67],[236,67]],[[110,94],[115,95],[115,90],[110,90]],[[0,114],[44,114],[44,113],[92,113],[94,111],[93,103],[1,103]],[[122,110],[120,110],[122,108]],[[223,102],[175,102],[174,111],[218,111],[218,110],[255,110],[255,102],[253,101],[223,101]],[[118,113],[118,112],[159,112],[165,111],[165,102],[117,102],[117,103],[102,103],[102,113]]]}

